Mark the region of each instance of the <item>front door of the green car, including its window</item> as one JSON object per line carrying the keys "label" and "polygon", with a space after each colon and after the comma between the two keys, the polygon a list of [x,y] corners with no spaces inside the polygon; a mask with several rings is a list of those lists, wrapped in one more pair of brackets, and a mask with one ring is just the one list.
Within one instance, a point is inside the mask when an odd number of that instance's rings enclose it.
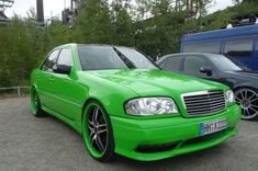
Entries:
{"label": "front door of the green car, including its window", "polygon": [[74,66],[74,56],[70,48],[63,48],[56,65],[65,65],[71,67],[69,75],[54,73],[54,84],[52,93],[55,98],[55,111],[69,119],[75,119],[79,114],[80,105],[78,104],[79,90],[77,87],[77,77]]}

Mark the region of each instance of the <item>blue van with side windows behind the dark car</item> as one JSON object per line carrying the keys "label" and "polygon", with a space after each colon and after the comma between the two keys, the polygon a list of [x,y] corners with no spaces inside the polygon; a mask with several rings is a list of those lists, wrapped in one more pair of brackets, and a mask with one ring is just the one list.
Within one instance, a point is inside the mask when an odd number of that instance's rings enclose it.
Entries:
{"label": "blue van with side windows behind the dark car", "polygon": [[187,34],[181,53],[212,53],[232,57],[258,70],[258,24]]}

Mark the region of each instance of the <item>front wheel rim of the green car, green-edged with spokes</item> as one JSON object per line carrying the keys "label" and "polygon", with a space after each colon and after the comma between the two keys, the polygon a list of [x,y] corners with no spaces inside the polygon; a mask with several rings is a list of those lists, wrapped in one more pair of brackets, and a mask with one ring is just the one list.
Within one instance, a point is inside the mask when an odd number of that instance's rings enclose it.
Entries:
{"label": "front wheel rim of the green car, green-edged with spokes", "polygon": [[101,106],[89,104],[83,115],[83,138],[89,152],[94,158],[101,158],[108,147],[108,122]]}

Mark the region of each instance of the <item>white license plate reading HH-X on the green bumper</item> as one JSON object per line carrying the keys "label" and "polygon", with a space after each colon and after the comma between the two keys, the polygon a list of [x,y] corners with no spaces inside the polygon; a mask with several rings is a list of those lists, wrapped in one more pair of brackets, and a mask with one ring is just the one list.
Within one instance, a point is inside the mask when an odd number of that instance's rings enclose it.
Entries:
{"label": "white license plate reading HH-X on the green bumper", "polygon": [[226,119],[218,119],[209,123],[201,123],[200,130],[201,135],[207,135],[212,133],[216,133],[227,128],[227,121]]}

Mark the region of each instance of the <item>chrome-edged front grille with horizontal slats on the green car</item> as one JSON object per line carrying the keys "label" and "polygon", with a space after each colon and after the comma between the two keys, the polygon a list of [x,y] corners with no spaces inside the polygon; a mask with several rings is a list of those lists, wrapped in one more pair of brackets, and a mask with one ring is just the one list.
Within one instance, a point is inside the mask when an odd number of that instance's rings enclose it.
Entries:
{"label": "chrome-edged front grille with horizontal slats on the green car", "polygon": [[203,91],[182,95],[189,116],[210,115],[225,110],[223,91]]}

